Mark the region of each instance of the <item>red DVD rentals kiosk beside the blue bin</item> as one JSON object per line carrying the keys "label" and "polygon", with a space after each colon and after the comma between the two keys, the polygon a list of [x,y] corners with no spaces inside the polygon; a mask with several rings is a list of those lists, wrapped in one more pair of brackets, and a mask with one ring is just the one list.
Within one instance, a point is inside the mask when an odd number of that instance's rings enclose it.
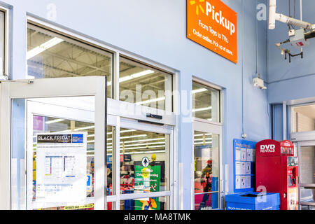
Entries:
{"label": "red DVD rentals kiosk beside the blue bin", "polygon": [[280,210],[298,209],[298,171],[290,141],[263,140],[256,148],[256,191],[280,193]]}

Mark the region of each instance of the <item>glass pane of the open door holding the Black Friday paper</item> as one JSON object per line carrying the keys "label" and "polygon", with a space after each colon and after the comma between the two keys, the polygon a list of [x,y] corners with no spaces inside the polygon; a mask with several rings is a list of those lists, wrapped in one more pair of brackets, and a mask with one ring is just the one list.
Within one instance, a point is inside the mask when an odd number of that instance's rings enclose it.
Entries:
{"label": "glass pane of the open door holding the Black Friday paper", "polygon": [[[83,100],[82,97],[66,99],[72,103]],[[13,195],[20,197],[20,203],[17,203],[20,209],[94,209],[94,113],[85,111],[87,114],[80,116],[82,110],[51,105],[55,100],[62,102],[64,99],[13,99],[15,113],[24,111],[25,105],[29,111],[25,120],[13,117],[13,132],[18,131],[19,122],[21,126],[22,122],[27,123],[26,150],[15,146],[19,142],[22,144],[24,139],[13,134],[12,160],[20,162],[17,164],[20,175],[12,175],[12,179],[16,178],[19,183],[17,190],[20,190],[18,194],[13,191]],[[21,107],[23,103],[25,105]],[[43,107],[50,112],[43,115]],[[60,116],[62,109],[74,115]],[[71,119],[76,116],[78,120]],[[22,155],[20,160],[16,155]],[[23,168],[26,169],[26,180],[22,178]],[[22,202],[23,196],[26,204]]]}

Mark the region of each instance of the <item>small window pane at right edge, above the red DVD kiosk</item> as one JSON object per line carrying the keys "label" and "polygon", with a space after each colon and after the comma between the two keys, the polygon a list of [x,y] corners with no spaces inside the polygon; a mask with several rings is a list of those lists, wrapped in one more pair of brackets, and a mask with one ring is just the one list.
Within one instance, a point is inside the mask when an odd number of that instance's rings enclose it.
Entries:
{"label": "small window pane at right edge, above the red DVD kiosk", "polygon": [[315,104],[293,107],[292,117],[293,133],[315,130]]}

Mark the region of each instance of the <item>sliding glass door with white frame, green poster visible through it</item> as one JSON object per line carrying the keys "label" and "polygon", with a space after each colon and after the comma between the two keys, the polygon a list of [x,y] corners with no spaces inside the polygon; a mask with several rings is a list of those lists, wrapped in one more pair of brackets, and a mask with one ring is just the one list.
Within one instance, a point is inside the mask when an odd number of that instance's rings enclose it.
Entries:
{"label": "sliding glass door with white frame, green poster visible through it", "polygon": [[173,129],[120,122],[118,202],[121,210],[173,207]]}

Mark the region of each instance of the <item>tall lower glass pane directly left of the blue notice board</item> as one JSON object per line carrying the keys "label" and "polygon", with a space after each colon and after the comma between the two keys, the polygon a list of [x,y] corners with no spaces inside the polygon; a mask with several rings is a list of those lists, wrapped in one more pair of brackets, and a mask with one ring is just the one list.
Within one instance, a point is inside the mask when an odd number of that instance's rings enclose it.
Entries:
{"label": "tall lower glass pane directly left of the blue notice board", "polygon": [[195,209],[218,208],[219,135],[194,132]]}

